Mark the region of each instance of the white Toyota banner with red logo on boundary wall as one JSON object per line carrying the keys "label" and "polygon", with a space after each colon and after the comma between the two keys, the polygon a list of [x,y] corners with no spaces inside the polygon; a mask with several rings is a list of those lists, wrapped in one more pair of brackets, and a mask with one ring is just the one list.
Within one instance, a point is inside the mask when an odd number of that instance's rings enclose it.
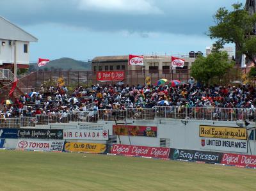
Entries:
{"label": "white Toyota banner with red logo on boundary wall", "polygon": [[19,139],[16,149],[39,151],[62,151],[64,141],[36,141],[33,139]]}

